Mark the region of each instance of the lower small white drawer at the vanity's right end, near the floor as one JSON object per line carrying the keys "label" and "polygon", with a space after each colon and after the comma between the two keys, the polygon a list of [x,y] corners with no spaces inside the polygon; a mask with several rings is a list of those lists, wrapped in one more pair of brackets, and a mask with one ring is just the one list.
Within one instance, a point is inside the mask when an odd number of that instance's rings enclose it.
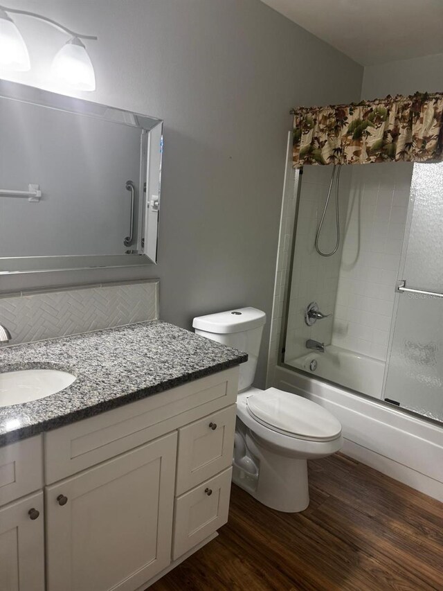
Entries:
{"label": "lower small white drawer at the vanity's right end, near the floor", "polygon": [[232,471],[227,468],[175,500],[173,560],[228,521]]}

